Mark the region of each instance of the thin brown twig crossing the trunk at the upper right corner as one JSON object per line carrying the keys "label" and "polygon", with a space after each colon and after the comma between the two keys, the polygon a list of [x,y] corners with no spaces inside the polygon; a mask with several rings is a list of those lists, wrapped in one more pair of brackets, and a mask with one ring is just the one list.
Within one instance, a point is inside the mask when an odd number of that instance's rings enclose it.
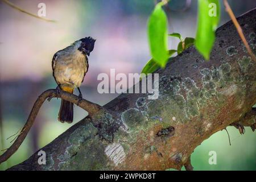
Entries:
{"label": "thin brown twig crossing the trunk at the upper right corner", "polygon": [[256,61],[255,55],[251,51],[251,48],[245,39],[245,35],[243,35],[242,28],[241,28],[240,24],[237,22],[236,16],[234,15],[232,9],[230,8],[228,1],[223,0],[223,2],[224,2],[224,6],[226,7],[226,12],[228,12],[230,18],[232,19],[232,22],[234,23],[234,26],[236,26],[237,32],[238,32],[240,38],[242,39],[243,44],[245,44],[245,47],[246,47],[248,53],[250,54],[251,58],[254,61]]}

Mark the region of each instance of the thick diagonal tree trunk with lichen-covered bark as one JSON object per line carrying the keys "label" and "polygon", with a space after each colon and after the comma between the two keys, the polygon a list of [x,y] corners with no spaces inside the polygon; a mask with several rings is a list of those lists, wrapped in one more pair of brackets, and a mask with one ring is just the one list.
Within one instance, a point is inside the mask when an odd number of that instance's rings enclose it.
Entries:
{"label": "thick diagonal tree trunk with lichen-covered bark", "polygon": [[[255,54],[256,10],[238,22]],[[255,61],[228,22],[216,31],[209,61],[190,47],[156,71],[157,100],[121,94],[43,147],[46,165],[39,165],[35,152],[9,170],[193,169],[190,155],[201,142],[251,112],[255,71]],[[255,117],[247,125],[255,126]]]}

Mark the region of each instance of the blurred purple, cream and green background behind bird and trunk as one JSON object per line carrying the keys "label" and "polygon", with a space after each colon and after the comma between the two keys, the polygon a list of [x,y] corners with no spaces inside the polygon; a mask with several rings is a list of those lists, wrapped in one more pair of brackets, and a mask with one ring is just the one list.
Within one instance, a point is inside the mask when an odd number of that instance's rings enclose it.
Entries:
{"label": "blurred purple, cream and green background behind bird and trunk", "polygon": [[[83,96],[104,105],[117,94],[98,94],[97,75],[110,73],[140,73],[150,59],[147,42],[147,19],[154,9],[154,0],[86,0],[86,1],[10,1],[30,13],[38,13],[38,4],[46,4],[45,22],[21,13],[0,1],[0,117],[1,149],[10,146],[6,138],[19,131],[34,101],[44,90],[55,88],[52,77],[52,56],[85,36],[96,38],[94,51],[89,57],[89,72],[81,86]],[[236,15],[255,7],[255,0],[229,1]],[[172,0],[166,7],[169,32],[183,37],[195,37],[197,1]],[[221,2],[220,26],[228,22]],[[170,38],[169,47],[178,41]],[[76,92],[77,94],[77,92]],[[0,169],[7,169],[31,156],[87,113],[75,106],[72,124],[57,121],[60,100],[45,102],[35,124],[19,150]],[[240,135],[233,127],[220,131],[198,146],[192,154],[195,170],[256,170],[256,134],[246,128]],[[217,164],[210,165],[209,151],[217,152]],[[2,151],[0,151],[0,154]]]}

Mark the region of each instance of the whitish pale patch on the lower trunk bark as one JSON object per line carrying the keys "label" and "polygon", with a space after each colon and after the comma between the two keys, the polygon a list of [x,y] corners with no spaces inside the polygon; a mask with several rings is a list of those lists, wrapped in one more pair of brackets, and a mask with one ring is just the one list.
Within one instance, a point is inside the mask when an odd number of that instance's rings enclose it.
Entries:
{"label": "whitish pale patch on the lower trunk bark", "polygon": [[119,143],[109,144],[105,148],[105,154],[114,162],[115,166],[125,160],[125,151]]}

